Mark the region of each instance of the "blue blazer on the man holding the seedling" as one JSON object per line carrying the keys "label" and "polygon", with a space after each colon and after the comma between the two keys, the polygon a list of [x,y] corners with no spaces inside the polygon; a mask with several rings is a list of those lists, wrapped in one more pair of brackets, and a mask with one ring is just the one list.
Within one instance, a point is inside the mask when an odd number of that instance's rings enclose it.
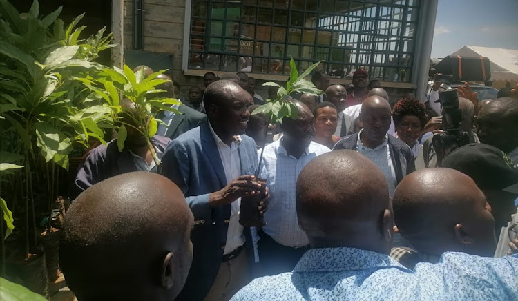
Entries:
{"label": "blue blazer on the man holding the seedling", "polygon": [[[253,175],[257,169],[256,143],[242,135],[238,148],[241,175]],[[162,174],[180,187],[194,215],[191,232],[194,258],[180,300],[203,300],[220,269],[227,242],[231,205],[209,206],[209,195],[227,186],[218,146],[205,122],[171,141],[162,157]],[[227,221],[227,222],[225,222]],[[250,229],[246,251],[253,260]]]}

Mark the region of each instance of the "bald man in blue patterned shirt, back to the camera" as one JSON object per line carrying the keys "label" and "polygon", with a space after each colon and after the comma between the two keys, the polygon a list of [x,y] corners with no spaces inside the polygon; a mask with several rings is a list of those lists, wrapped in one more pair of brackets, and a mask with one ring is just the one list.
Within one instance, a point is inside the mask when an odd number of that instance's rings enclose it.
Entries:
{"label": "bald man in blue patterned shirt, back to the camera", "polygon": [[296,208],[311,250],[292,273],[253,280],[232,300],[517,299],[516,255],[447,252],[438,264],[418,264],[414,271],[390,258],[392,204],[384,179],[352,150],[307,164],[298,177]]}

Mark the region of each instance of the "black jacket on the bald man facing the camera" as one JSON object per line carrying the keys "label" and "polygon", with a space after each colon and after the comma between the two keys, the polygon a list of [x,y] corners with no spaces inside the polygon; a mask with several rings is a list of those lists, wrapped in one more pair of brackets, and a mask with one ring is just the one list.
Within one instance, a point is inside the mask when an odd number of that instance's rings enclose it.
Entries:
{"label": "black jacket on the bald man facing the camera", "polygon": [[[350,149],[357,150],[358,133],[354,133],[340,139],[333,147],[333,150]],[[401,182],[403,177],[415,171],[414,155],[405,142],[392,135],[388,135],[388,146],[390,148],[390,158],[396,172],[396,185]]]}

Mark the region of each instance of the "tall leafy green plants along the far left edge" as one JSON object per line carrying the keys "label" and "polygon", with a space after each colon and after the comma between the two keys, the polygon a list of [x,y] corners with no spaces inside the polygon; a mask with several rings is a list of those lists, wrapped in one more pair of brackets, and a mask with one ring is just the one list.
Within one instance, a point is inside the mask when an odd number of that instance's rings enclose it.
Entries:
{"label": "tall leafy green plants along the far left edge", "polygon": [[85,26],[76,26],[83,15],[65,26],[57,19],[60,13],[61,7],[41,16],[35,0],[28,13],[20,14],[0,0],[1,169],[19,168],[2,171],[1,179],[14,194],[11,208],[18,207],[18,198],[24,201],[26,257],[29,242],[37,244],[35,194],[46,193],[50,214],[56,179],[61,168],[68,169],[73,144],[88,146],[90,137],[104,141],[99,128],[113,128],[111,110],[93,108],[102,101],[89,98],[92,92],[74,79],[102,68],[93,60],[112,47],[111,34],[104,36],[103,28],[81,40]]}

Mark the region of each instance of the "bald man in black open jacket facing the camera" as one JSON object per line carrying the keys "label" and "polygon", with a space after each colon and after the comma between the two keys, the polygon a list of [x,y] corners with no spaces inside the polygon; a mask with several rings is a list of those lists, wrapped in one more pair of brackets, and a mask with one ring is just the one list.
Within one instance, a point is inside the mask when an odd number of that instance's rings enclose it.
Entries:
{"label": "bald man in black open jacket facing the camera", "polygon": [[392,196],[397,184],[407,174],[412,173],[415,167],[410,147],[387,134],[390,117],[390,104],[386,99],[379,96],[367,97],[360,113],[363,130],[336,142],[333,150],[356,150],[371,159],[385,174]]}

